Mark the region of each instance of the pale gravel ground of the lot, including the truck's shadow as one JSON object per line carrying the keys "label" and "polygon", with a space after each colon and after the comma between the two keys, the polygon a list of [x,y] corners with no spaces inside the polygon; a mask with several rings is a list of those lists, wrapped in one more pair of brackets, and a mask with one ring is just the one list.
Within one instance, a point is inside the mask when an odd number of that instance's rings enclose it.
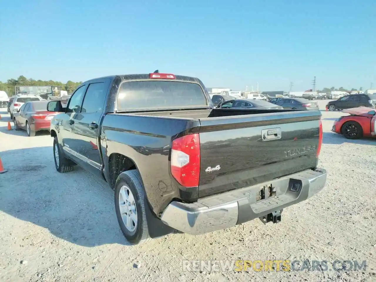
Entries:
{"label": "pale gravel ground of the lot, including the truck's shadow", "polygon": [[[327,101],[320,101],[324,109]],[[375,281],[376,140],[330,132],[340,112],[322,111],[320,166],[327,185],[284,210],[279,224],[254,220],[217,232],[171,234],[129,246],[113,192],[77,167],[55,170],[52,138],[7,131],[0,110],[0,281]],[[373,187],[373,188],[372,188]],[[357,260],[365,271],[183,271],[183,260]],[[329,263],[329,268],[330,267]]]}

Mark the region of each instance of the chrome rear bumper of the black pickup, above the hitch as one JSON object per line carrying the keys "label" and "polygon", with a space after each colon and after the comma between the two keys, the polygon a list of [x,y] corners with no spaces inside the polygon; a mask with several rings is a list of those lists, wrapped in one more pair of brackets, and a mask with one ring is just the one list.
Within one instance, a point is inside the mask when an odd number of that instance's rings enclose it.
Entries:
{"label": "chrome rear bumper of the black pickup, above the hitch", "polygon": [[[205,197],[195,203],[171,202],[161,220],[184,233],[199,235],[225,229],[288,206],[320,192],[326,182],[326,170],[305,170],[270,182]],[[257,200],[260,190],[275,187],[276,196]],[[296,191],[295,191],[296,190]]]}

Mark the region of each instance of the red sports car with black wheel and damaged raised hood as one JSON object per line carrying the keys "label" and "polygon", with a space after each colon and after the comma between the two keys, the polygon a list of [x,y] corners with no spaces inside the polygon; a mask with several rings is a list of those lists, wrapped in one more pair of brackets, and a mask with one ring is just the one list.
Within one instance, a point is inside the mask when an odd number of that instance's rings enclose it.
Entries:
{"label": "red sports car with black wheel and damaged raised hood", "polygon": [[375,110],[367,107],[346,109],[350,115],[337,118],[332,131],[342,134],[347,139],[359,139],[362,137],[376,137]]}

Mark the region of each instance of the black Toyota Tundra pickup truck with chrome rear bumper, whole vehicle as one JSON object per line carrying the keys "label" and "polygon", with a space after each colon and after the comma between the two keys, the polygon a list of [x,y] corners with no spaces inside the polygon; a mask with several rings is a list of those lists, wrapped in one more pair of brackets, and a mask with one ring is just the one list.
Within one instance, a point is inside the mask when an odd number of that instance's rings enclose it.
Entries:
{"label": "black Toyota Tundra pickup truck with chrome rear bumper, whole vehicle", "polygon": [[320,111],[216,109],[201,80],[154,72],[83,82],[51,121],[56,170],[78,164],[115,190],[128,241],[198,235],[323,189]]}

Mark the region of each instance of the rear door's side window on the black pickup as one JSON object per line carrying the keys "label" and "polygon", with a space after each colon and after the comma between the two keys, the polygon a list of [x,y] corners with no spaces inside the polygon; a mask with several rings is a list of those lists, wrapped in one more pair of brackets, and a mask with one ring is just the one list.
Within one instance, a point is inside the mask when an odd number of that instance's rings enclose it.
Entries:
{"label": "rear door's side window on the black pickup", "polygon": [[85,97],[83,98],[81,112],[102,112],[103,105],[106,100],[105,91],[105,83],[103,82],[89,84],[88,89],[86,90]]}

